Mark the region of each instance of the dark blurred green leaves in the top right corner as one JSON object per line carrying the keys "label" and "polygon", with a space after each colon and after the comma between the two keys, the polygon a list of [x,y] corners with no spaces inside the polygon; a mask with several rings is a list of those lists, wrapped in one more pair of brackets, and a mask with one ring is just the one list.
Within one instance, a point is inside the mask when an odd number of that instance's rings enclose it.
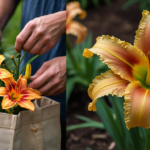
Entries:
{"label": "dark blurred green leaves in the top right corner", "polygon": [[122,9],[126,9],[130,7],[132,4],[135,4],[139,2],[139,9],[141,11],[143,10],[149,10],[150,11],[150,1],[149,0],[128,0],[123,6]]}

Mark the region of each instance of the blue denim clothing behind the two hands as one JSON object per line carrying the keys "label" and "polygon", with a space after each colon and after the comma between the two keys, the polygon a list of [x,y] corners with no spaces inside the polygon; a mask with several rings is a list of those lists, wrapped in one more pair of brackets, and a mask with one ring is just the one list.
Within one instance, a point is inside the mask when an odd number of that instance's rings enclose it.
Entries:
{"label": "blue denim clothing behind the two hands", "polygon": [[[66,9],[66,0],[24,0],[22,8],[21,30],[30,20],[36,17],[52,14],[65,9]],[[23,54],[23,51],[21,52],[21,54]],[[61,36],[57,45],[54,48],[50,49],[45,54],[39,56],[31,63],[32,75],[34,75],[37,72],[37,70],[42,66],[44,62],[49,61],[55,57],[65,55],[66,55],[66,35],[64,34]],[[25,65],[25,63],[33,56],[34,55],[26,53],[24,60],[20,65],[20,70]],[[66,92],[63,92],[56,96],[50,96],[50,98],[61,103],[61,120],[65,121]]]}

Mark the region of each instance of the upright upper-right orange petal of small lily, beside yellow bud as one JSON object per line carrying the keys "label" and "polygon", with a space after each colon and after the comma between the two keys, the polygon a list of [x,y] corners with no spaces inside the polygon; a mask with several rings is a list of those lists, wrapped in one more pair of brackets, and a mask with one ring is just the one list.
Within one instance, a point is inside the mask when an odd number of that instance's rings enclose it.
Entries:
{"label": "upright upper-right orange petal of small lily, beside yellow bud", "polygon": [[25,78],[25,76],[22,77],[22,75],[20,75],[17,81],[17,87],[19,88],[19,90],[25,89],[27,87],[27,79]]}

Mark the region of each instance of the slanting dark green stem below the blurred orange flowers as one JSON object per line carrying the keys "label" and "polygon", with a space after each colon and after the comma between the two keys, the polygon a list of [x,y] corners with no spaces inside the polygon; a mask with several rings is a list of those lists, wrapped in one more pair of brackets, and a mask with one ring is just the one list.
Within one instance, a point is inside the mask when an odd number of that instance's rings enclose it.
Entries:
{"label": "slanting dark green stem below the blurred orange flowers", "polygon": [[72,55],[72,48],[71,48],[71,44],[70,44],[68,35],[66,35],[66,47],[67,47],[67,52],[71,57],[71,60],[72,60],[74,67],[77,69],[79,75],[84,77],[84,74],[83,74],[81,68],[79,67],[78,63],[76,62],[74,56]]}

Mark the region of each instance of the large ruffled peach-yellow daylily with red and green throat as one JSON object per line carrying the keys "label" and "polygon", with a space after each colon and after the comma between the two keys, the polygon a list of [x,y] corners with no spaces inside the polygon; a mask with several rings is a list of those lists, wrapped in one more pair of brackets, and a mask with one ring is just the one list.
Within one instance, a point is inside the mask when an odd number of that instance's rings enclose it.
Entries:
{"label": "large ruffled peach-yellow daylily with red and green throat", "polygon": [[134,46],[115,37],[101,36],[85,49],[83,56],[97,54],[111,69],[96,77],[89,86],[93,100],[90,111],[96,111],[99,97],[112,94],[125,98],[125,123],[131,127],[150,128],[150,12],[143,11]]}

